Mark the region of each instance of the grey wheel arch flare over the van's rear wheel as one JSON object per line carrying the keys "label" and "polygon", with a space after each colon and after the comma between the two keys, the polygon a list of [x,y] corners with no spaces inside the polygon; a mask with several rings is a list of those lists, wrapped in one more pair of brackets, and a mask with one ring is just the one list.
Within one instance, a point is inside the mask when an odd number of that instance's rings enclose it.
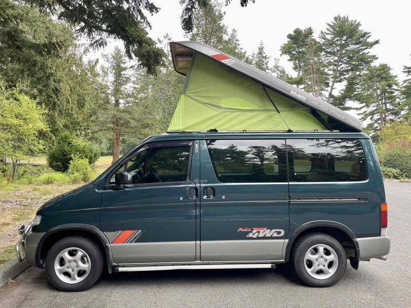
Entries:
{"label": "grey wheel arch flare over the van's rear wheel", "polygon": [[340,241],[340,243],[342,244],[351,242],[353,245],[355,258],[360,260],[360,249],[357,242],[357,237],[349,227],[336,221],[316,220],[302,224],[292,232],[286,247],[284,258],[285,262],[288,262],[290,260],[291,248],[295,240],[305,234],[312,232],[326,233]]}

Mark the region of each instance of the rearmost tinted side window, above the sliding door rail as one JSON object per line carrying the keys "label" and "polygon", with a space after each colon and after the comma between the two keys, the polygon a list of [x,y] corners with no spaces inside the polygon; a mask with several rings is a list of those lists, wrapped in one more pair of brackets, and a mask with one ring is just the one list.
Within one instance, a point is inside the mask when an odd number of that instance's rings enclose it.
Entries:
{"label": "rearmost tinted side window, above the sliding door rail", "polygon": [[290,181],[364,181],[364,151],[356,139],[289,139]]}

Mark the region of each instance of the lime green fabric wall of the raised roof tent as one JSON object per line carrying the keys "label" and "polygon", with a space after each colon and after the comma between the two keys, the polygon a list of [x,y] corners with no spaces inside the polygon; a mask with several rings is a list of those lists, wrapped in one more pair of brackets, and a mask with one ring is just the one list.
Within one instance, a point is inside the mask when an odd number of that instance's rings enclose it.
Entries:
{"label": "lime green fabric wall of the raised roof tent", "polygon": [[308,107],[206,56],[194,54],[167,131],[326,129]]}

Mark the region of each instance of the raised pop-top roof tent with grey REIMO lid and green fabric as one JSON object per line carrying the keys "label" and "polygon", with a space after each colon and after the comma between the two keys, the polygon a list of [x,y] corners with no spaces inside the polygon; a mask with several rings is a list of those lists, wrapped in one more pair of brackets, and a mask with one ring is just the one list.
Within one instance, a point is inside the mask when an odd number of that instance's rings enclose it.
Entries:
{"label": "raised pop-top roof tent with grey REIMO lid and green fabric", "polygon": [[186,80],[168,132],[362,130],[350,114],[210,46],[170,48]]}

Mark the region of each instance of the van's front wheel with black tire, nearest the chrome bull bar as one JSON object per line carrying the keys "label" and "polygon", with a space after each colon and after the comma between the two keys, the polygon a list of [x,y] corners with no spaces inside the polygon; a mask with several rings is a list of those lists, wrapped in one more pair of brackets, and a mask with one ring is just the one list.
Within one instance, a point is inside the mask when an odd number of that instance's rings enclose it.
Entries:
{"label": "van's front wheel with black tire, nearest the chrome bull bar", "polygon": [[87,290],[100,278],[104,257],[99,246],[89,238],[65,237],[55,243],[46,256],[46,275],[61,291]]}

